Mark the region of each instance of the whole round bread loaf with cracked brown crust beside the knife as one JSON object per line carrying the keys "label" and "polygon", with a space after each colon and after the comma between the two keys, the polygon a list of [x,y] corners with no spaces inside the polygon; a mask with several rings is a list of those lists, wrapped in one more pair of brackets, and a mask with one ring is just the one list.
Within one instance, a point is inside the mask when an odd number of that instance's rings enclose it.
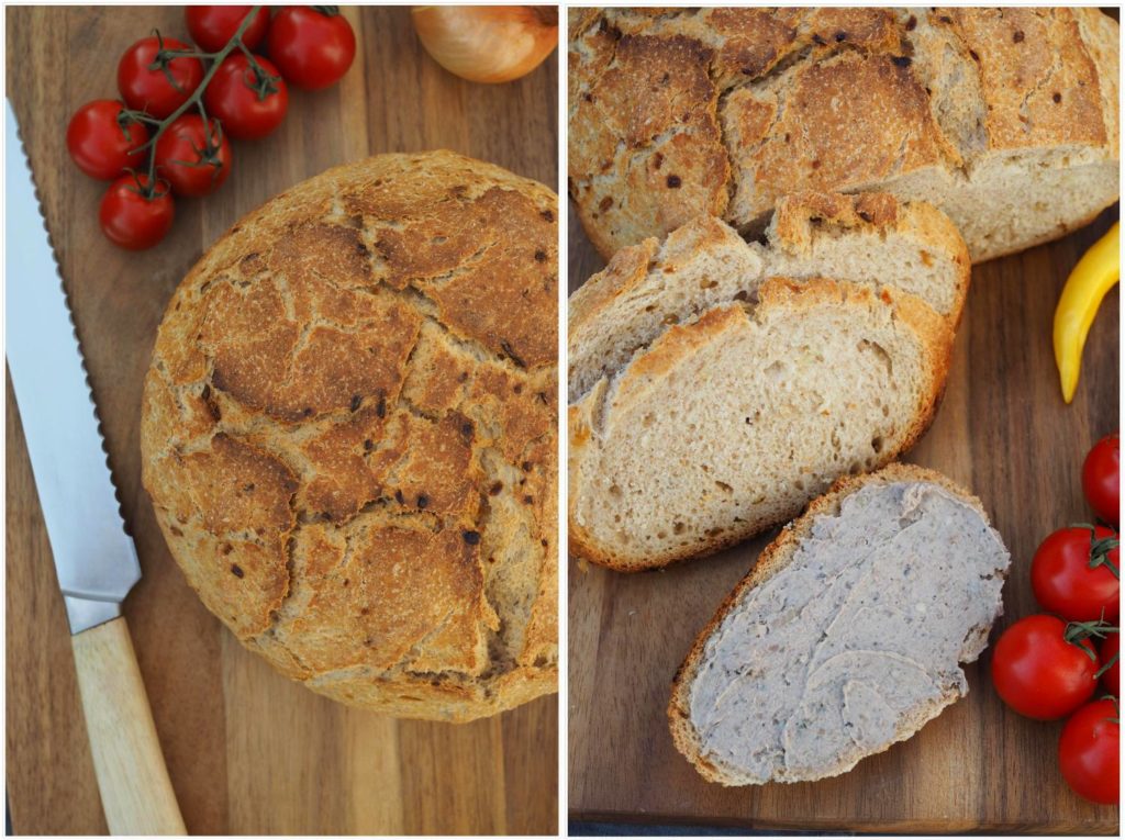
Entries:
{"label": "whole round bread loaf with cracked brown crust beside the knife", "polygon": [[451,721],[556,690],[557,205],[449,152],[371,157],[250,214],[173,296],[144,486],[286,676]]}

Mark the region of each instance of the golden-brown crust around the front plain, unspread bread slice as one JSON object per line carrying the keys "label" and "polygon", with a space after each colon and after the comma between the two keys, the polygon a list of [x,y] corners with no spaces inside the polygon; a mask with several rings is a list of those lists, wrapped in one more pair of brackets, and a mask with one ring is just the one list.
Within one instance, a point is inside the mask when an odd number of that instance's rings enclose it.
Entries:
{"label": "golden-brown crust around the front plain, unspread bread slice", "polygon": [[[776,308],[785,310],[794,318],[800,318],[802,310],[825,302],[857,309],[862,307],[889,307],[893,310],[894,317],[915,333],[919,343],[925,347],[925,355],[930,360],[929,388],[925,391],[914,416],[904,421],[906,434],[902,445],[898,449],[886,448],[881,453],[876,464],[881,467],[892,461],[901,452],[909,450],[933,422],[945,389],[953,352],[953,329],[927,304],[911,295],[896,292],[892,289],[883,289],[876,293],[868,287],[822,278],[803,281],[772,278],[762,286],[759,302],[754,311]],[[736,305],[711,309],[692,324],[670,327],[647,352],[637,356],[619,374],[615,382],[616,398],[627,398],[631,390],[650,387],[654,374],[669,369],[682,358],[691,355],[699,347],[717,340],[726,329],[737,326],[746,317],[744,308]],[[572,553],[614,571],[645,571],[721,551],[789,518],[789,516],[780,516],[772,521],[736,523],[722,535],[704,539],[680,550],[668,551],[658,558],[623,554],[598,540],[578,523],[577,498],[578,488],[584,480],[586,460],[594,449],[592,434],[593,430],[598,426],[595,412],[602,405],[602,397],[608,387],[603,379],[593,391],[576,405],[570,406],[568,412],[568,480],[570,491],[568,494],[567,520],[568,548]],[[789,515],[795,513],[796,511],[793,511]]]}

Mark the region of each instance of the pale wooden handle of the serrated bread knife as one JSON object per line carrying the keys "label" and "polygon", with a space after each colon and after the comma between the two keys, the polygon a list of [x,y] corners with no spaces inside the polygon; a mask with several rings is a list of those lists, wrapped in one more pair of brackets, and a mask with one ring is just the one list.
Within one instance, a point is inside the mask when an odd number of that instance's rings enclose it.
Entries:
{"label": "pale wooden handle of the serrated bread knife", "polygon": [[110,833],[186,834],[125,618],[71,643]]}

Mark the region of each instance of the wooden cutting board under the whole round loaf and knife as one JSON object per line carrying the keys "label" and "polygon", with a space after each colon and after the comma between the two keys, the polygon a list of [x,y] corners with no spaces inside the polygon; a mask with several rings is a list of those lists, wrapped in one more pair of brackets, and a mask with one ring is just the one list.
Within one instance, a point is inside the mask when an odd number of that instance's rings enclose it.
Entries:
{"label": "wooden cutting board under the whole round loaf and knife", "polygon": [[[378,152],[452,148],[557,183],[554,56],[506,85],[456,79],[420,47],[407,9],[354,9],[346,78],[294,91],[278,133],[235,143],[215,196],[180,201],[144,254],[97,224],[105,186],[66,156],[70,115],[115,97],[116,62],[180,7],[9,8],[8,90],[74,305],[143,581],[126,602],[172,783],[192,833],[555,833],[557,698],[454,726],[348,710],[273,674],[202,607],[141,488],[141,385],[164,305],[243,214],[328,166]],[[43,278],[51,282],[51,278]],[[19,317],[9,313],[9,317]],[[16,833],[105,833],[51,563],[11,391],[7,408],[7,769]]]}

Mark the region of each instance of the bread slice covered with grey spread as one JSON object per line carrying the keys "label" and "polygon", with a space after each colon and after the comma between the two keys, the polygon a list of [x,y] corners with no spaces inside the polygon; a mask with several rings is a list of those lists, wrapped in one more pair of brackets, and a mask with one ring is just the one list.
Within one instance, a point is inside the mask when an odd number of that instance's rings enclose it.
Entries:
{"label": "bread slice covered with grey spread", "polygon": [[723,785],[836,776],[969,690],[1009,554],[932,470],[846,477],[771,543],[695,641],[668,719]]}

